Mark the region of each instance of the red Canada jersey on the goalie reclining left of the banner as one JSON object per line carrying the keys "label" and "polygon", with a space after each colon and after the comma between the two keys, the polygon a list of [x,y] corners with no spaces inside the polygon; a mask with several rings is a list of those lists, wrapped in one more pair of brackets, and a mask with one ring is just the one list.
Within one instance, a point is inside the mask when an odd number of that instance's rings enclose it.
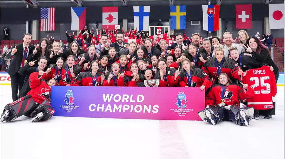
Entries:
{"label": "red Canada jersey on the goalie reclining left of the banner", "polygon": [[34,72],[30,74],[29,85],[31,90],[27,95],[32,95],[32,98],[37,103],[42,103],[44,100],[50,99],[50,86],[46,84],[46,81],[42,77],[38,77],[39,72]]}

